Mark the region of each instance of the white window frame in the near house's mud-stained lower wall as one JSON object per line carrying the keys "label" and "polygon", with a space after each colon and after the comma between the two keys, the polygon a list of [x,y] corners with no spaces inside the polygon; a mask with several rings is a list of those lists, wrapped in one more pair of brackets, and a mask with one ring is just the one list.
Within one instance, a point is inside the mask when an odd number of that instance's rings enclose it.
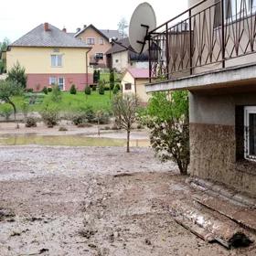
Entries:
{"label": "white window frame in the near house's mud-stained lower wall", "polygon": [[251,113],[256,114],[256,106],[244,107],[244,158],[251,161],[256,161],[256,155],[250,155],[250,131],[249,124],[250,119],[249,115]]}

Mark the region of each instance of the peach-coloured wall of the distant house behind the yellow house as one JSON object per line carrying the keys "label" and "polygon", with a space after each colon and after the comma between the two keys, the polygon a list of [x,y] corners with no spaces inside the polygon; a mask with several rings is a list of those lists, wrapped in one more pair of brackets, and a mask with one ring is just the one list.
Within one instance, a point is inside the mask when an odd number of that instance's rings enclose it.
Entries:
{"label": "peach-coloured wall of the distant house behind the yellow house", "polygon": [[[85,43],[87,43],[87,38],[95,38],[95,45],[91,45],[92,48],[90,51],[90,57],[91,59],[93,59],[96,53],[103,53],[103,59],[100,59],[98,63],[102,68],[105,68],[107,65],[105,52],[109,50],[109,48],[111,48],[111,44],[109,43],[109,41],[105,37],[102,37],[101,34],[99,34],[91,27],[87,28],[84,32],[82,32],[78,36],[78,38],[81,38],[81,40]],[[100,38],[103,38],[103,45],[100,44]]]}

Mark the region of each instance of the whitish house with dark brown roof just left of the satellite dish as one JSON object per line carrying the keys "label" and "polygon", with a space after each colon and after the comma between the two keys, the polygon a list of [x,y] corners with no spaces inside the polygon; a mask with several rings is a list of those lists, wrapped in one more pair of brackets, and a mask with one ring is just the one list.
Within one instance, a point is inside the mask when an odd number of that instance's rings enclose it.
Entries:
{"label": "whitish house with dark brown roof just left of the satellite dish", "polygon": [[148,54],[134,53],[128,37],[119,40],[118,44],[114,44],[113,48],[106,52],[106,57],[108,68],[116,69],[119,72],[132,67],[135,69],[148,69]]}

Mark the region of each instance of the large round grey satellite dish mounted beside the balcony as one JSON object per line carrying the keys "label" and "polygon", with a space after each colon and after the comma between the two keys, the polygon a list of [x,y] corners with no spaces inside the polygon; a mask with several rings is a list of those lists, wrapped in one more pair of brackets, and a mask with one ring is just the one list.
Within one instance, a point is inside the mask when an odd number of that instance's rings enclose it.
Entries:
{"label": "large round grey satellite dish mounted beside the balcony", "polygon": [[137,53],[143,53],[148,48],[146,37],[148,32],[155,29],[155,11],[148,3],[136,7],[129,26],[129,41]]}

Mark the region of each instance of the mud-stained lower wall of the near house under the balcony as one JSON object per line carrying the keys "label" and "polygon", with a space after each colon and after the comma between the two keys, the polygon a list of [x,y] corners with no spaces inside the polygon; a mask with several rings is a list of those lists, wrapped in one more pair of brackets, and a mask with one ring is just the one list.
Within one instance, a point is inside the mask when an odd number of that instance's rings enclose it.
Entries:
{"label": "mud-stained lower wall of the near house under the balcony", "polygon": [[[224,183],[256,196],[256,163],[237,159],[236,106],[256,105],[256,92],[190,93],[192,176]],[[243,125],[243,123],[241,123]]]}

